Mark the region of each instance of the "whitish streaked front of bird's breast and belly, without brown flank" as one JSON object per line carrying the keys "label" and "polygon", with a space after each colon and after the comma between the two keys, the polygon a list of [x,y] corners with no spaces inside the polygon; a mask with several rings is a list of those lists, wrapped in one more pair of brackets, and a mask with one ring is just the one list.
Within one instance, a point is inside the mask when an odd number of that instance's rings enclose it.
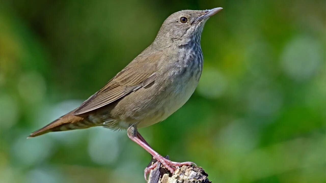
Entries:
{"label": "whitish streaked front of bird's breast and belly, without brown flank", "polygon": [[169,84],[164,89],[164,97],[160,99],[160,103],[156,104],[158,107],[155,113],[159,115],[150,116],[141,121],[139,127],[165,120],[182,107],[195,91],[202,71],[201,49],[200,47],[190,50],[185,48],[180,51],[187,52],[187,54],[179,57],[180,60],[175,63],[175,68],[166,73],[166,78],[168,78],[166,83]]}

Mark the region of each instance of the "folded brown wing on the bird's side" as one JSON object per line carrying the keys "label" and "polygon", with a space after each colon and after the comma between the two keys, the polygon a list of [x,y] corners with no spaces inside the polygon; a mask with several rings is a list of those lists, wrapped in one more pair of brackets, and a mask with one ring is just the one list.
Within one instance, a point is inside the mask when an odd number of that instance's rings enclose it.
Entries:
{"label": "folded brown wing on the bird's side", "polygon": [[139,55],[101,90],[83,102],[73,114],[80,115],[108,105],[132,91],[153,83],[161,56],[162,51]]}

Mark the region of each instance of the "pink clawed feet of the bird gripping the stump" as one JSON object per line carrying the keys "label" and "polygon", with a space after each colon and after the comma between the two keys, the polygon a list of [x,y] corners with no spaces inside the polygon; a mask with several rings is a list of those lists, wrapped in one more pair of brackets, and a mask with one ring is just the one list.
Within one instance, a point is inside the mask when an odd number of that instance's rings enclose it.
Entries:
{"label": "pink clawed feet of the bird gripping the stump", "polygon": [[[147,179],[147,174],[150,173],[151,170],[153,170],[156,166],[157,166],[157,163],[160,162],[163,164],[163,166],[165,168],[167,168],[172,174],[174,174],[174,171],[179,168],[179,166],[183,166],[183,165],[196,165],[194,162],[172,162],[166,158],[164,158],[163,156],[161,155],[157,155],[156,157],[154,157],[154,159],[156,159],[156,162],[153,163],[152,165],[148,166],[145,168],[144,170],[144,176],[145,176],[145,179]],[[197,165],[196,165],[197,166]]]}

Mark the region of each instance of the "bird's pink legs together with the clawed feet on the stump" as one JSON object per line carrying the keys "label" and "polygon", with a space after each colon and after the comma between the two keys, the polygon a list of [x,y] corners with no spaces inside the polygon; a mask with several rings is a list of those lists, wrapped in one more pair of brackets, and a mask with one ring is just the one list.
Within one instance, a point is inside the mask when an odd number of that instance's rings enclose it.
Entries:
{"label": "bird's pink legs together with the clawed feet on the stump", "polygon": [[[135,126],[129,126],[127,129],[127,134],[128,137],[136,142],[138,145],[140,145],[142,148],[144,148],[147,152],[149,152],[156,160],[157,162],[161,162],[163,164],[164,167],[166,167],[172,174],[174,173],[174,170],[176,169],[176,167],[178,166],[182,166],[182,165],[188,165],[190,166],[191,164],[195,164],[193,162],[172,162],[166,158],[164,158],[163,156],[159,155],[154,149],[152,149],[147,142],[141,137],[141,135],[138,133],[137,128]],[[139,135],[137,135],[139,134]],[[143,140],[141,140],[141,137]],[[146,179],[146,175],[149,173],[149,171],[151,169],[154,169],[157,165],[157,162],[154,163],[153,165],[147,167],[144,170],[145,173],[145,179]]]}

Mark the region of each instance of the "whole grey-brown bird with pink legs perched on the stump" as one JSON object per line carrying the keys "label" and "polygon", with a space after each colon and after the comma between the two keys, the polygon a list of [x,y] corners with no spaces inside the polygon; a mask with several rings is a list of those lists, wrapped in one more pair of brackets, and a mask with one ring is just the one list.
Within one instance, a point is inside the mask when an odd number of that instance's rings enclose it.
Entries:
{"label": "whole grey-brown bird with pink legs perched on the stump", "polygon": [[162,24],[153,43],[114,76],[81,106],[31,133],[35,137],[49,132],[103,126],[126,130],[128,137],[149,152],[172,174],[177,167],[193,162],[173,162],[157,153],[138,132],[168,118],[183,106],[195,91],[203,67],[200,37],[205,22],[221,7],[181,10]]}

